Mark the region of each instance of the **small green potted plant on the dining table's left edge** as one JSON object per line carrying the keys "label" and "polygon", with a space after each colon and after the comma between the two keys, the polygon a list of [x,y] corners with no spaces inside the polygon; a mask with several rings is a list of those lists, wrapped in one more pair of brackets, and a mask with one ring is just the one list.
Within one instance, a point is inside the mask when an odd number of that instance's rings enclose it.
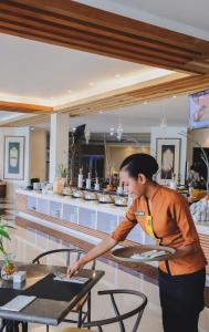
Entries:
{"label": "small green potted plant on the dining table's left edge", "polygon": [[3,264],[1,268],[1,277],[3,279],[10,279],[14,272],[14,264],[11,253],[8,253],[4,249],[3,240],[11,240],[7,229],[14,228],[13,226],[3,222],[2,218],[0,219],[0,252],[3,256]]}

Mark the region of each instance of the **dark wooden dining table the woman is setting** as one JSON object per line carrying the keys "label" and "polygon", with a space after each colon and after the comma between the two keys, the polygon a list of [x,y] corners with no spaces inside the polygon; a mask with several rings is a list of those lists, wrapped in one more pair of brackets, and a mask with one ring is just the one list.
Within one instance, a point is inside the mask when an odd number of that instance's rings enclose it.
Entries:
{"label": "dark wooden dining table the woman is setting", "polygon": [[[12,300],[19,294],[34,294],[35,295],[35,286],[38,282],[43,280],[43,278],[51,278],[52,273],[55,271],[65,272],[66,268],[63,267],[53,267],[45,264],[20,264],[19,270],[27,271],[27,281],[23,283],[20,289],[13,288],[13,282],[2,281],[0,287],[0,305],[4,305],[7,302]],[[79,273],[81,277],[87,277],[90,280],[85,284],[80,284],[76,291],[75,283],[69,282],[56,282],[55,287],[51,289],[51,294],[48,298],[43,290],[43,297],[38,291],[36,299],[22,309],[19,312],[0,310],[0,318],[12,321],[24,321],[32,323],[41,323],[46,325],[58,325],[76,305],[76,303],[88,293],[88,291],[100,281],[104,276],[104,271],[93,271],[84,269]],[[54,277],[54,276],[53,276]],[[46,279],[45,279],[46,280]],[[52,282],[52,280],[50,281]],[[55,282],[55,281],[53,281]],[[58,294],[60,295],[63,292],[63,284],[67,284],[69,290],[74,292],[70,295],[66,301],[62,299],[56,299]],[[59,286],[60,284],[60,286]],[[62,284],[62,286],[61,286]],[[59,293],[59,287],[61,292]],[[66,297],[66,293],[63,293]]]}

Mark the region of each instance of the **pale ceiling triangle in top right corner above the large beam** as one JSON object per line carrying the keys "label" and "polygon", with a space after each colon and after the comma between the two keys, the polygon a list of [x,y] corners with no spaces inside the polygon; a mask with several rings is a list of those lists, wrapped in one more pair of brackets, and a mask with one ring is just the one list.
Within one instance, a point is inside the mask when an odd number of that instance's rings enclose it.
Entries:
{"label": "pale ceiling triangle in top right corner above the large beam", "polygon": [[74,0],[209,40],[208,0]]}

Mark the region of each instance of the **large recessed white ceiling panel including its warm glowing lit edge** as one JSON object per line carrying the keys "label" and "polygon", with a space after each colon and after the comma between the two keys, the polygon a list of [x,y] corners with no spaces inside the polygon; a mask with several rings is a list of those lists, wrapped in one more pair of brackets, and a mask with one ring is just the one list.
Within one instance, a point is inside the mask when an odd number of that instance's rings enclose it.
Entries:
{"label": "large recessed white ceiling panel including its warm glowing lit edge", "polygon": [[3,33],[0,45],[3,101],[58,106],[171,73]]}

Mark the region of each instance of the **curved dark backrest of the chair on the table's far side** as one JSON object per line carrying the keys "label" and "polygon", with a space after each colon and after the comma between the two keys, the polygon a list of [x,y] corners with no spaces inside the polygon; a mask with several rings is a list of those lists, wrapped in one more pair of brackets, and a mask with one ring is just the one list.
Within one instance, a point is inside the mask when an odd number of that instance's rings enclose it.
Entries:
{"label": "curved dark backrest of the chair on the table's far side", "polygon": [[[72,256],[74,257],[74,261],[79,260],[82,255],[85,255],[86,252],[80,249],[74,249],[74,248],[66,248],[66,249],[54,249],[54,250],[49,250],[40,253],[36,256],[33,260],[32,263],[41,263],[41,259],[53,253],[66,253],[66,267],[69,267],[73,261],[72,261]],[[90,267],[92,270],[95,270],[95,260],[92,261],[92,266]]]}

